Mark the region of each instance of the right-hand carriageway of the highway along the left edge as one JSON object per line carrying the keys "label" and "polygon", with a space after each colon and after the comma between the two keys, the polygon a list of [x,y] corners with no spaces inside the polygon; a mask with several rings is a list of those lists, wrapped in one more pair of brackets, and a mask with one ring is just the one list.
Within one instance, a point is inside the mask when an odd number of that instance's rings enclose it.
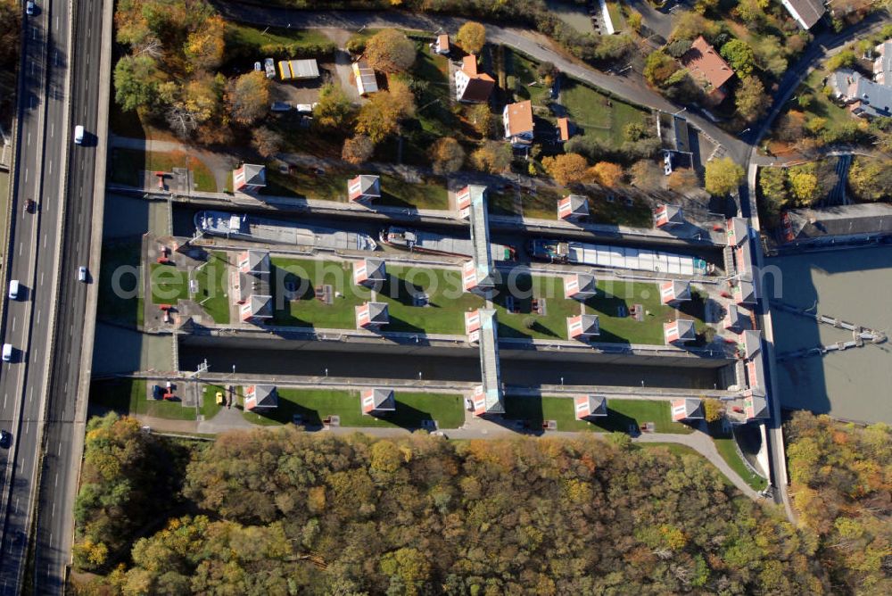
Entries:
{"label": "right-hand carriageway of the highway along the left edge", "polygon": [[[34,563],[34,586],[37,593],[60,593],[65,567],[70,557],[73,502],[68,501],[66,487],[76,468],[72,461],[79,453],[71,453],[74,434],[83,428],[74,424],[75,402],[80,387],[81,351],[84,346],[87,284],[78,282],[77,270],[90,262],[93,244],[93,198],[95,183],[95,146],[97,109],[101,86],[99,76],[103,22],[102,0],[81,0],[76,3],[73,51],[78,60],[72,64],[72,125],[87,129],[87,146],[77,147],[70,155],[60,261],[59,310],[54,329],[54,358],[50,371],[49,400],[46,410],[45,458],[40,476]],[[99,140],[104,143],[105,139]],[[95,239],[97,242],[100,238]],[[96,271],[98,273],[98,271]],[[94,278],[90,278],[91,283]],[[91,330],[92,333],[92,330]],[[92,354],[88,354],[92,356]],[[87,399],[86,395],[81,396]]]}

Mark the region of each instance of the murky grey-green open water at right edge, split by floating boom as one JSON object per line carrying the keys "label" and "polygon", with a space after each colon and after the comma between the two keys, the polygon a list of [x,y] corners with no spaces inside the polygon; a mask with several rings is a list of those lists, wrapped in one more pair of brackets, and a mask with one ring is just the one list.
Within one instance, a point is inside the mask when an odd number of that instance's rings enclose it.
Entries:
{"label": "murky grey-green open water at right edge, split by floating boom", "polygon": [[[810,308],[855,325],[892,332],[892,247],[811,252],[766,261],[780,270],[765,277],[772,300]],[[772,309],[775,352],[846,342],[851,332]],[[892,345],[868,344],[780,360],[780,403],[859,422],[892,424]]]}

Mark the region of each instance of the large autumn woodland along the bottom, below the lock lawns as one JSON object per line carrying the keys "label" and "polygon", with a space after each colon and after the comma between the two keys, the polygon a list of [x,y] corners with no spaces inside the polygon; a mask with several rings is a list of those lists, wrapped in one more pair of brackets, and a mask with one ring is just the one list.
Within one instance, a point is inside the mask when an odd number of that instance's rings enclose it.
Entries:
{"label": "large autumn woodland along the bottom, below the lock lawns", "polygon": [[827,592],[812,542],[777,513],[698,456],[624,435],[288,427],[221,435],[186,468],[182,449],[133,419],[90,422],[76,564],[103,575],[78,593]]}

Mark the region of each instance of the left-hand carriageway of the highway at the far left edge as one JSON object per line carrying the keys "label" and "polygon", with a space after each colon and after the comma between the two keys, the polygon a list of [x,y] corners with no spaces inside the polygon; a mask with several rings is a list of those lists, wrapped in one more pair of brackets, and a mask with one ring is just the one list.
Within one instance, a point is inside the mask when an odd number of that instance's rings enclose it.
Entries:
{"label": "left-hand carriageway of the highway at the far left edge", "polygon": [[[37,14],[23,17],[25,44],[21,61],[21,133],[16,161],[16,195],[7,280],[19,279],[18,300],[8,301],[4,342],[16,348],[0,371],[3,426],[13,435],[2,454],[4,535],[0,545],[0,594],[21,593],[29,522],[33,512],[41,447],[41,418],[46,395],[54,317],[56,257],[62,222],[68,151],[67,61],[68,2],[41,3]],[[34,214],[24,213],[28,198]],[[4,293],[6,286],[4,284]]]}

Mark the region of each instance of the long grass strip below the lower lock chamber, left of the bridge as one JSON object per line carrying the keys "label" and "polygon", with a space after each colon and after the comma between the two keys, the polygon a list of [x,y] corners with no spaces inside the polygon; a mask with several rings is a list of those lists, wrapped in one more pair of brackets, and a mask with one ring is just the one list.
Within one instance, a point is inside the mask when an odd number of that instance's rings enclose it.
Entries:
{"label": "long grass strip below the lower lock chamber, left of the bridge", "polygon": [[457,393],[394,393],[396,411],[388,418],[362,414],[358,391],[322,389],[279,389],[278,407],[255,414],[244,412],[253,424],[281,425],[301,415],[303,423],[319,426],[327,416],[341,417],[341,426],[377,426],[420,428],[423,420],[436,420],[440,428],[457,428],[464,424],[462,396]]}

